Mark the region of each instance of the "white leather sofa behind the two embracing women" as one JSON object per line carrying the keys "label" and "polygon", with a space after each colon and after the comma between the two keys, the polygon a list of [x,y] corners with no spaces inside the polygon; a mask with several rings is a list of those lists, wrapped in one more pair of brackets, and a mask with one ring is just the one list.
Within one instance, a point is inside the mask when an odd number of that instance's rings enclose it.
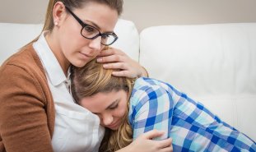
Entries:
{"label": "white leather sofa behind the two embracing women", "polygon": [[[0,65],[41,28],[0,23]],[[155,26],[139,35],[132,21],[119,20],[115,32],[114,47],[151,77],[169,82],[256,140],[256,23]]]}

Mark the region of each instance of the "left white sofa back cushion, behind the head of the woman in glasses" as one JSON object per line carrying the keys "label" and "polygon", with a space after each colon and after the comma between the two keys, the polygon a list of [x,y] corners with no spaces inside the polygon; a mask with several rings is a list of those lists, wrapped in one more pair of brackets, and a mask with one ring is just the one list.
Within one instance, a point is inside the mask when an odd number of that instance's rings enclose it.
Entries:
{"label": "left white sofa back cushion, behind the head of the woman in glasses", "polygon": [[[40,35],[42,24],[0,23],[0,65],[13,53]],[[138,61],[139,35],[132,21],[119,19],[114,28],[119,39],[113,47],[120,48]]]}

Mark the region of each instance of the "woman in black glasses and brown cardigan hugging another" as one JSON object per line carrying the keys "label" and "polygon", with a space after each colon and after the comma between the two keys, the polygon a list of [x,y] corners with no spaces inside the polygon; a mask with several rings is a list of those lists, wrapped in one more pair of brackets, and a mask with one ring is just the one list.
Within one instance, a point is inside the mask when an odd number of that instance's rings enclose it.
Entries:
{"label": "woman in black glasses and brown cardigan hugging another", "polygon": [[[118,39],[113,30],[122,7],[122,0],[49,0],[41,35],[0,69],[1,152],[98,151],[105,129],[74,103],[69,69],[97,58],[122,69],[114,76],[147,76],[122,51],[105,47]],[[144,134],[122,151],[170,151],[170,139],[149,140],[161,134]]]}

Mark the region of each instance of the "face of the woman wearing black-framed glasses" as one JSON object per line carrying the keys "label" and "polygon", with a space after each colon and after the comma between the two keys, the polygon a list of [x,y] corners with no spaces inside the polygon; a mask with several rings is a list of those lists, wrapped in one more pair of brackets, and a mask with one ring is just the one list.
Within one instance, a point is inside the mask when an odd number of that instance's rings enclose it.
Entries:
{"label": "face of the woman wearing black-framed glasses", "polygon": [[[63,8],[66,8],[63,6]],[[66,63],[72,63],[76,67],[83,67],[91,59],[95,58],[104,45],[100,44],[101,36],[96,39],[86,39],[81,35],[81,24],[70,12],[64,11],[63,16],[58,17],[56,40],[60,49],[61,58]],[[118,21],[118,12],[105,4],[96,2],[86,3],[85,7],[73,9],[72,12],[81,21],[100,30],[100,33],[113,32],[114,25]],[[56,12],[58,15],[58,12]],[[63,19],[63,18],[64,19]],[[58,59],[59,60],[59,59]],[[60,59],[61,60],[61,59]]]}

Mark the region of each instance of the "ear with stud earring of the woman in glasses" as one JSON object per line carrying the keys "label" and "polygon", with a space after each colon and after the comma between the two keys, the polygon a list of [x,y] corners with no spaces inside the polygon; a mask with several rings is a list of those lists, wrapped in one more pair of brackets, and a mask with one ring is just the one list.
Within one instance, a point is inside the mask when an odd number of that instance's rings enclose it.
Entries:
{"label": "ear with stud earring of the woman in glasses", "polygon": [[54,9],[53,9],[54,25],[58,27],[62,25],[66,16],[67,16],[67,12],[63,2],[56,2],[54,4]]}

